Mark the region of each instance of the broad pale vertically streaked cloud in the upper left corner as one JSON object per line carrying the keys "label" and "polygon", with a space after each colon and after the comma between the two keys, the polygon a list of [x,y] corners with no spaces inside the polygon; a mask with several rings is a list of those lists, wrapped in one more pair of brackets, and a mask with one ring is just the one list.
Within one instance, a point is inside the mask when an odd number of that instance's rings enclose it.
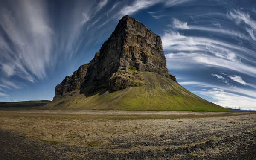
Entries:
{"label": "broad pale vertically streaked cloud in the upper left corner", "polygon": [[[1,69],[7,76],[18,75],[29,81],[33,76],[42,79],[46,76],[46,66],[50,63],[52,31],[44,1],[19,1],[17,9],[1,9],[0,27],[9,37],[10,43],[3,48]],[[13,53],[15,52],[15,54]],[[11,57],[11,58],[10,58]]]}

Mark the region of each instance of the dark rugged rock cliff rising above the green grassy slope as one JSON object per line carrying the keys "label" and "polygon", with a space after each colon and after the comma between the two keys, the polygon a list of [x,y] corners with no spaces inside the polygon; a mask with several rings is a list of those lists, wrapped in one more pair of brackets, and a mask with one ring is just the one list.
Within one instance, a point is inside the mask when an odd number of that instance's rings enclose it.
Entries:
{"label": "dark rugged rock cliff rising above the green grassy slope", "polygon": [[176,81],[166,68],[160,36],[126,15],[93,60],[56,86],[55,96],[67,95],[73,90],[93,93],[101,88],[116,91],[141,86],[145,84],[141,72],[154,72]]}

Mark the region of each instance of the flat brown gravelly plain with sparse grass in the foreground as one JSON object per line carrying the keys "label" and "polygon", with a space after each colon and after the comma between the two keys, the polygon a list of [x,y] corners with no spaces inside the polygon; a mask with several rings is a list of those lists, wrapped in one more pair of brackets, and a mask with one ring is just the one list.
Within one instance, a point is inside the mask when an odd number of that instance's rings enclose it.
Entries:
{"label": "flat brown gravelly plain with sparse grass in the foreground", "polygon": [[1,160],[255,160],[256,113],[0,111]]}

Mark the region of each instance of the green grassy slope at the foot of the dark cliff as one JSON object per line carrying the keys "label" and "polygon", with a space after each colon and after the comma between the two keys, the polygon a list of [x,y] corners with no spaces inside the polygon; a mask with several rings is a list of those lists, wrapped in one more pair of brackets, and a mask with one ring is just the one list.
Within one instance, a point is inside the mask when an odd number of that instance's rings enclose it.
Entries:
{"label": "green grassy slope at the foot of the dark cliff", "polygon": [[43,109],[85,110],[166,110],[166,111],[231,111],[189,92],[177,82],[157,73],[141,72],[144,84],[113,93],[100,90],[93,96],[79,91],[56,98]]}

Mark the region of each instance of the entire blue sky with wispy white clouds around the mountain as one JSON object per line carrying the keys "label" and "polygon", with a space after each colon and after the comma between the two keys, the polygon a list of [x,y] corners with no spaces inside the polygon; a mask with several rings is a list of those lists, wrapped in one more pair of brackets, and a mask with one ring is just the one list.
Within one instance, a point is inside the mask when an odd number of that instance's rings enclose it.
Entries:
{"label": "entire blue sky with wispy white clouds around the mountain", "polygon": [[183,87],[256,110],[255,0],[1,0],[0,102],[52,99],[124,15],[160,35]]}

